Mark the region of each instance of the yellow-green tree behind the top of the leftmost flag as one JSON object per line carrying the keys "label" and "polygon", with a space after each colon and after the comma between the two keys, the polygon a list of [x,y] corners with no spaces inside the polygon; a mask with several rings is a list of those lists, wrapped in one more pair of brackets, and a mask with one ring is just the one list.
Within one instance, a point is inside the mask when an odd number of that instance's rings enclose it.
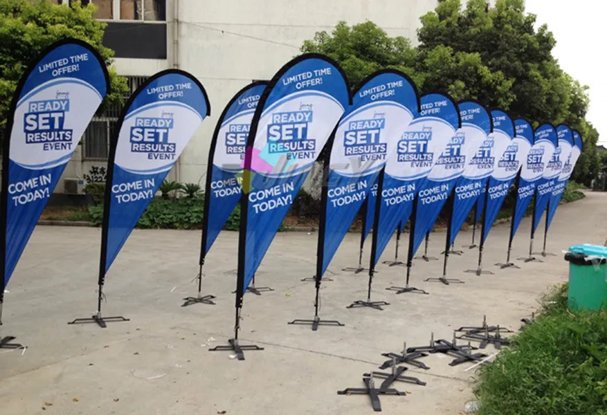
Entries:
{"label": "yellow-green tree behind the top of the leftmost flag", "polygon": [[114,50],[102,45],[106,24],[93,19],[96,8],[80,2],[57,6],[48,0],[0,0],[0,127],[8,117],[12,95],[19,79],[39,53],[57,40],[74,37],[94,46],[108,66],[111,93],[100,111],[120,103],[127,93],[127,82],[111,68]]}

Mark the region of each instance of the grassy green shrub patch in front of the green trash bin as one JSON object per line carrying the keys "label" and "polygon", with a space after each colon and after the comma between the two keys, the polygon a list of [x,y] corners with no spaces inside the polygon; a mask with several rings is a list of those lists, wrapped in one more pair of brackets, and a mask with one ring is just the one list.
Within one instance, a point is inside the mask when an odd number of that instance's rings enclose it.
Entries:
{"label": "grassy green shrub patch in front of the green trash bin", "polygon": [[572,313],[567,288],[481,368],[479,415],[607,415],[607,311]]}

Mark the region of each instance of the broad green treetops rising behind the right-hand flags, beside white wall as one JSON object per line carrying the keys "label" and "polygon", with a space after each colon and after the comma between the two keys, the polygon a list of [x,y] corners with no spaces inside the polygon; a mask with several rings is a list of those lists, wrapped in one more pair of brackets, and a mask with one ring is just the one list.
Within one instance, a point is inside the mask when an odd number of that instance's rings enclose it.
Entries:
{"label": "broad green treetops rising behind the right-hand flags, beside white wall", "polygon": [[541,122],[566,122],[583,137],[584,151],[574,180],[590,185],[597,176],[597,130],[586,120],[588,87],[565,73],[552,56],[556,41],[547,26],[534,28],[536,16],[523,0],[444,0],[421,18],[419,45],[390,37],[366,21],[337,24],[331,34],[316,33],[303,52],[325,53],[344,68],[352,86],[379,68],[397,68],[421,92],[445,91],[455,100],[478,99],[512,116]]}

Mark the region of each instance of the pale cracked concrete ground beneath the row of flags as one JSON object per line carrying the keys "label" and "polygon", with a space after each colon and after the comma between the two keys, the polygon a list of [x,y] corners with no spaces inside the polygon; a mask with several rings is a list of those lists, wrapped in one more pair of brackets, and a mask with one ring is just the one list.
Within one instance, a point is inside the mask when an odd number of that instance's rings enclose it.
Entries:
{"label": "pale cracked concrete ground beneath the row of flags", "polygon": [[[362,387],[361,375],[377,370],[382,352],[428,343],[430,333],[451,338],[453,329],[490,324],[518,329],[519,320],[537,306],[547,286],[567,279],[568,264],[560,254],[577,243],[602,245],[607,236],[607,194],[588,192],[586,199],[563,205],[550,229],[548,250],[559,253],[542,264],[521,264],[520,270],[499,270],[505,259],[509,224],[491,231],[484,268],[495,275],[464,274],[475,268],[477,251],[452,256],[449,277],[466,284],[424,282],[439,276],[442,261],[415,261],[412,282],[431,295],[395,295],[384,288],[401,284],[405,268],[379,266],[372,299],[386,300],[385,311],[345,306],[366,296],[367,275],[341,268],[354,266],[359,235],[349,234],[327,273],[334,279],[321,291],[323,318],[343,327],[287,325],[310,318],[314,284],[300,282],[314,273],[316,234],[281,233],[275,238],[259,273],[257,286],[275,291],[244,299],[242,342],[264,351],[246,352],[246,360],[230,353],[212,353],[224,344],[234,324],[237,234],[222,232],[208,255],[205,293],[217,305],[181,307],[194,295],[199,232],[136,230],[107,277],[104,314],[125,315],[130,322],[69,326],[96,308],[100,230],[38,227],[8,286],[1,335],[15,335],[22,351],[0,351],[2,414],[368,414],[365,396],[338,396],[346,387]],[[525,219],[514,241],[514,258],[525,256],[529,241]],[[440,257],[444,232],[431,234],[429,252]],[[406,252],[406,237],[401,252]],[[456,246],[469,243],[461,232]],[[540,247],[540,239],[536,246]],[[393,239],[382,260],[392,259]],[[369,250],[365,250],[368,258]],[[209,340],[214,338],[215,340]],[[487,349],[493,353],[492,347]],[[472,396],[470,364],[450,367],[450,358],[429,356],[424,371],[410,376],[426,387],[400,384],[408,396],[381,398],[386,414],[459,414]],[[51,405],[48,405],[51,404]],[[44,408],[44,409],[43,409]]]}

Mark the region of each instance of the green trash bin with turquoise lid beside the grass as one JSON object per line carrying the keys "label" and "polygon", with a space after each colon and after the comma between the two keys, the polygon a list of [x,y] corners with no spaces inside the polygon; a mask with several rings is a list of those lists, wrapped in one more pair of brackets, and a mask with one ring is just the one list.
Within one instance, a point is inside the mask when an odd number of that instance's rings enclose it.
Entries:
{"label": "green trash bin with turquoise lid beside the grass", "polygon": [[584,243],[569,251],[565,254],[569,261],[569,308],[607,308],[607,247]]}

